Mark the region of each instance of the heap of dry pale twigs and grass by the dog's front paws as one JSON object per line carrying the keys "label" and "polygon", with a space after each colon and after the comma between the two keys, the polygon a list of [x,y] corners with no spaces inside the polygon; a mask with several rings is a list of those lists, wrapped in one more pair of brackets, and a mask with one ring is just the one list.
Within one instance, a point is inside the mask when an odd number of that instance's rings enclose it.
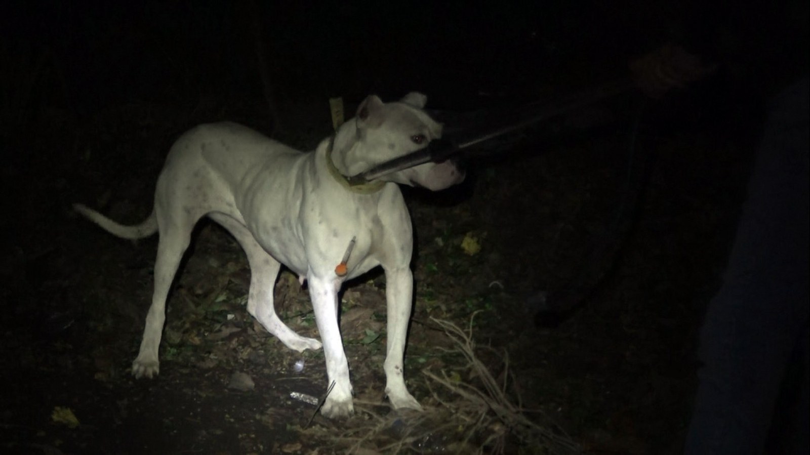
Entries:
{"label": "heap of dry pale twigs and grass by the dog's front paws", "polygon": [[[424,406],[423,412],[388,412],[387,406],[355,400],[357,415],[349,428],[335,436],[324,428],[306,430],[312,436],[330,439],[347,453],[582,453],[578,444],[538,410],[523,409],[520,398],[509,397],[509,357],[502,355],[503,380],[497,381],[475,355],[472,326],[467,330],[450,321],[431,320],[453,341],[445,351],[462,355],[464,366],[475,384],[460,381],[458,375],[423,370],[424,378],[438,406]],[[484,347],[483,349],[492,349]],[[384,409],[383,409],[384,408]],[[387,413],[387,414],[384,414]],[[530,417],[531,416],[531,417]]]}

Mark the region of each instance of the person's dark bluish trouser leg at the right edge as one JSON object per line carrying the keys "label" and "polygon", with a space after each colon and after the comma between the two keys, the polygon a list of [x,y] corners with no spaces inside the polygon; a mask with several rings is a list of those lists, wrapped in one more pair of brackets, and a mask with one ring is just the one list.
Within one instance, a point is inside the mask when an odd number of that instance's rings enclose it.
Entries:
{"label": "person's dark bluish trouser leg at the right edge", "polygon": [[723,287],[701,330],[685,453],[810,453],[808,79],[771,105]]}

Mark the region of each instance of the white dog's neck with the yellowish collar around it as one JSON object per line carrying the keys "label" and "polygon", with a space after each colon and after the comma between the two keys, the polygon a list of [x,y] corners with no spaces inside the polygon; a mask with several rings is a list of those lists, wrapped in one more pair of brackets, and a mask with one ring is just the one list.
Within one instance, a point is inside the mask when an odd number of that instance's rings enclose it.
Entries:
{"label": "white dog's neck with the yellowish collar around it", "polygon": [[352,158],[356,147],[360,147],[360,138],[357,137],[357,129],[353,121],[343,124],[335,134],[329,139],[326,146],[326,167],[330,175],[344,188],[352,193],[370,194],[377,193],[385,181],[369,181],[362,185],[351,185],[347,176],[354,176],[367,170],[369,164],[365,161],[355,162]]}

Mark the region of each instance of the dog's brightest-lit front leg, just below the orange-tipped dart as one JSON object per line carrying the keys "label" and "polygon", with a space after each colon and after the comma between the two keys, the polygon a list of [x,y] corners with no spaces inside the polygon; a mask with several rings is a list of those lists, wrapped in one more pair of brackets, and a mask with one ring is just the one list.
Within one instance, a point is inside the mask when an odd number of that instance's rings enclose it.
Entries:
{"label": "dog's brightest-lit front leg, just below the orange-tipped dart", "polygon": [[321,333],[323,354],[326,357],[327,385],[335,382],[321,408],[322,415],[330,419],[346,417],[354,413],[352,384],[349,381],[349,364],[343,351],[338,325],[338,290],[340,282],[321,279],[309,274],[309,297],[315,310],[315,322]]}

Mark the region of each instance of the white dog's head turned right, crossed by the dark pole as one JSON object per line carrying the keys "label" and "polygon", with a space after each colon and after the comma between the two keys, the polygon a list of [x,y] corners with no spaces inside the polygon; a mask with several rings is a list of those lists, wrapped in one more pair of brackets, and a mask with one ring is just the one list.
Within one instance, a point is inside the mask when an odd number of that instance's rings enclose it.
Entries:
{"label": "white dog's head turned right, crossed by the dark pole", "polygon": [[[441,123],[434,121],[423,108],[427,96],[411,92],[402,100],[383,103],[368,96],[355,116],[358,146],[347,157],[356,168],[367,170],[390,159],[399,158],[428,147],[441,138]],[[419,185],[437,191],[461,183],[464,171],[458,159],[425,163],[380,177],[404,185]]]}

